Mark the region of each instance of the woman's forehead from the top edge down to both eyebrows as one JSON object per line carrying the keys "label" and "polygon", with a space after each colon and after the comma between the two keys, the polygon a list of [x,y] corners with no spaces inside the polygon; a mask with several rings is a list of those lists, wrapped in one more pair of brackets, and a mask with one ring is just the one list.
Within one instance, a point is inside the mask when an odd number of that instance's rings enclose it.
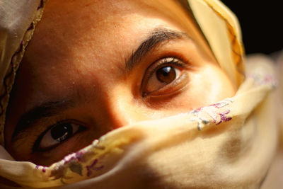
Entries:
{"label": "woman's forehead from the top edge down to both eyebrows", "polygon": [[[125,67],[125,59],[159,26],[202,38],[175,1],[50,0],[23,57],[16,86],[38,101],[64,96],[77,82],[99,83],[112,70]],[[196,41],[205,45],[204,40]]]}

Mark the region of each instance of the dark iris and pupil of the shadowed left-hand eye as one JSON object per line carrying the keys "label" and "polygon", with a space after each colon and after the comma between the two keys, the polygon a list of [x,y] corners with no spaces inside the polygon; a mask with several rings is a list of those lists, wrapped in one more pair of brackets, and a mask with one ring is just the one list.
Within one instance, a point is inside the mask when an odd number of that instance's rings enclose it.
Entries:
{"label": "dark iris and pupil of the shadowed left-hand eye", "polygon": [[71,137],[71,134],[73,134],[73,128],[70,124],[56,125],[51,129],[50,132],[52,139],[55,139],[58,142],[62,142],[65,139]]}

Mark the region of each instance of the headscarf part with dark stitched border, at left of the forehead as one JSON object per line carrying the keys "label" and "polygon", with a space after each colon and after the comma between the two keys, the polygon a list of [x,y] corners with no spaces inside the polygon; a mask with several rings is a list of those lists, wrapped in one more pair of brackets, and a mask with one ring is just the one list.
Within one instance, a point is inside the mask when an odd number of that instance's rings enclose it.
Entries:
{"label": "headscarf part with dark stitched border, at left of the forehead", "polygon": [[44,4],[44,0],[0,1],[0,144],[4,144],[9,93]]}

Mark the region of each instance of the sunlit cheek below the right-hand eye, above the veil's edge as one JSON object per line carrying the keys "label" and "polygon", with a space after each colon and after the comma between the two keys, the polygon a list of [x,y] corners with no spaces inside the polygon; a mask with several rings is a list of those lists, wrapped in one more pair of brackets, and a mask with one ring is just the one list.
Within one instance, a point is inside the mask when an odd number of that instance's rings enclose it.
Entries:
{"label": "sunlit cheek below the right-hand eye, above the veil's edge", "polygon": [[167,108],[173,114],[185,113],[230,98],[235,93],[236,89],[226,74],[219,67],[208,65],[190,74],[187,88],[173,97]]}

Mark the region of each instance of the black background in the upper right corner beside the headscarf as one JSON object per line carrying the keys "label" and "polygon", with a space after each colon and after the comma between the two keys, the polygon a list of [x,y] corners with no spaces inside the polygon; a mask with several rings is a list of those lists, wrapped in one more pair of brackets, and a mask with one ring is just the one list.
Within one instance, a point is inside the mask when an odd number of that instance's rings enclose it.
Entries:
{"label": "black background in the upper right corner beside the headscarf", "polygon": [[[283,6],[279,0],[222,0],[238,17],[246,53],[283,50]],[[248,4],[247,4],[248,3]]]}

